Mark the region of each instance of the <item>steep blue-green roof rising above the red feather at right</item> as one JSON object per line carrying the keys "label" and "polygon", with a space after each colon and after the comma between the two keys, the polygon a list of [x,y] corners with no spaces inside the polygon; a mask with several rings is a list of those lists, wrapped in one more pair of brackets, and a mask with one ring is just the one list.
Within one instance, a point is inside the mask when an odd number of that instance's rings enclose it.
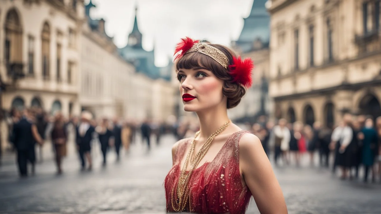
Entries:
{"label": "steep blue-green roof rising above the red feather at right", "polygon": [[268,46],[270,40],[270,15],[267,13],[265,3],[267,0],[254,0],[250,15],[244,18],[241,34],[236,45],[243,52],[253,49],[253,42],[260,39],[264,46]]}

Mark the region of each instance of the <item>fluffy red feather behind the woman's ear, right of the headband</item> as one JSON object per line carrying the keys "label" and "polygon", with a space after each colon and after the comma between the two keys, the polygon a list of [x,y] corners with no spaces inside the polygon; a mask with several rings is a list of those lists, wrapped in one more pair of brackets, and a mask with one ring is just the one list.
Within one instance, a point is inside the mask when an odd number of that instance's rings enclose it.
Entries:
{"label": "fluffy red feather behind the woman's ear, right of the headband", "polygon": [[253,81],[251,80],[251,73],[253,69],[253,60],[251,60],[251,58],[246,58],[242,61],[241,56],[238,56],[238,58],[233,56],[233,64],[229,65],[233,82],[242,84],[246,88],[250,88],[251,84],[253,84]]}

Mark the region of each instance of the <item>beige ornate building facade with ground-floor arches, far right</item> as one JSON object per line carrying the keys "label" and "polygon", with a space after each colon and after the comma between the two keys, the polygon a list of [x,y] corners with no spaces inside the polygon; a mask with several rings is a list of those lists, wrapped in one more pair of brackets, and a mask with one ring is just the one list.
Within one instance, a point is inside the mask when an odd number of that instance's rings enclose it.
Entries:
{"label": "beige ornate building facade with ground-floor arches, far right", "polygon": [[333,126],[381,116],[379,0],[272,0],[274,117]]}

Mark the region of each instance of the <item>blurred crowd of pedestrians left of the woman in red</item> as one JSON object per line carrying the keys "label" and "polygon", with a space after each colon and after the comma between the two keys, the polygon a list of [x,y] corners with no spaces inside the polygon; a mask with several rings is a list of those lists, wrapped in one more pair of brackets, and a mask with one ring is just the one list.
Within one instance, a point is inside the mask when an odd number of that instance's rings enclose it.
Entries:
{"label": "blurred crowd of pedestrians left of the woman in red", "polygon": [[67,156],[68,142],[75,142],[80,159],[81,170],[91,170],[93,161],[91,148],[98,144],[103,156],[102,165],[106,166],[107,153],[114,151],[116,161],[120,160],[120,150],[128,154],[130,145],[141,134],[142,143],[147,150],[151,148],[154,136],[156,144],[160,144],[160,136],[173,133],[173,126],[163,122],[144,120],[119,120],[118,118],[94,119],[88,111],[78,116],[64,117],[61,112],[49,115],[40,108],[17,110],[12,109],[8,124],[8,142],[11,150],[17,153],[17,163],[21,177],[27,177],[27,163],[31,172],[35,172],[35,164],[43,161],[43,147],[51,143],[55,155],[57,174],[62,174],[62,159]]}

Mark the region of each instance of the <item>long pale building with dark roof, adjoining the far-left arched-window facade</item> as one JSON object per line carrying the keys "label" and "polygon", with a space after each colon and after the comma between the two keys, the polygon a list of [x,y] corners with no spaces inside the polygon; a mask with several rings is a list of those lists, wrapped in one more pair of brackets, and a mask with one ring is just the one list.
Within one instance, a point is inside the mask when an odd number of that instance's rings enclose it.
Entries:
{"label": "long pale building with dark roof, adjoining the far-left arched-window facade", "polygon": [[97,118],[124,118],[135,68],[118,54],[113,38],[105,32],[106,21],[90,17],[92,7],[91,1],[85,6],[81,35],[81,108]]}

